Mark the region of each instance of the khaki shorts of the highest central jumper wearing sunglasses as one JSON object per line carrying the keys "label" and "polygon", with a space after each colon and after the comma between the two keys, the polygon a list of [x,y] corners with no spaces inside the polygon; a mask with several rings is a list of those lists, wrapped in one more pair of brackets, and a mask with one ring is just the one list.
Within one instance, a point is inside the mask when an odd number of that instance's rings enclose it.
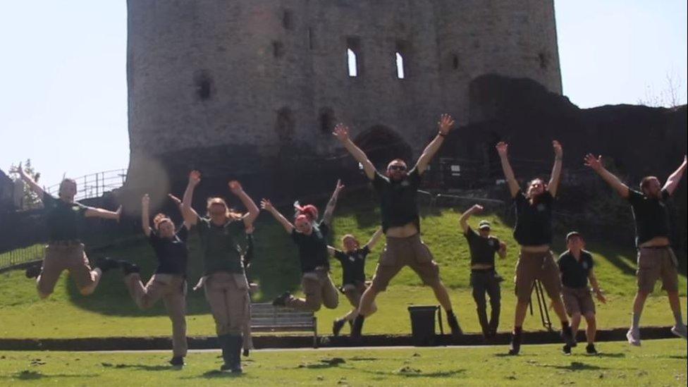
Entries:
{"label": "khaki shorts of the highest central jumper wearing sunglasses", "polygon": [[387,237],[387,244],[382,251],[371,287],[383,292],[404,266],[409,266],[426,285],[435,285],[440,281],[439,267],[432,257],[430,249],[420,240],[420,234],[407,238]]}

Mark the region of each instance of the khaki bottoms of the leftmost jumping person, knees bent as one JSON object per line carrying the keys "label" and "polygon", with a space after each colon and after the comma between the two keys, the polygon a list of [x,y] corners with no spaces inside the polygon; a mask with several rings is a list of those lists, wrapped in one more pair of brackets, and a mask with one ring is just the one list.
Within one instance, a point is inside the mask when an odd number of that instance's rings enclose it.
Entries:
{"label": "khaki bottoms of the leftmost jumping person, knees bent", "polygon": [[87,288],[95,282],[82,243],[47,245],[37,283],[38,291],[42,294],[53,293],[55,284],[64,270],[69,271],[69,276],[79,289]]}

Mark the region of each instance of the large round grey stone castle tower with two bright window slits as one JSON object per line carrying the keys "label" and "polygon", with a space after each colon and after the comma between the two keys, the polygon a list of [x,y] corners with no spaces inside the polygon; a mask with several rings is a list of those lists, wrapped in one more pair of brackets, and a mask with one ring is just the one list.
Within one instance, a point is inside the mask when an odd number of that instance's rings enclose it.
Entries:
{"label": "large round grey stone castle tower with two bright window slits", "polygon": [[376,163],[416,157],[488,73],[561,93],[553,0],[129,0],[127,72],[139,183],[317,168],[339,121]]}

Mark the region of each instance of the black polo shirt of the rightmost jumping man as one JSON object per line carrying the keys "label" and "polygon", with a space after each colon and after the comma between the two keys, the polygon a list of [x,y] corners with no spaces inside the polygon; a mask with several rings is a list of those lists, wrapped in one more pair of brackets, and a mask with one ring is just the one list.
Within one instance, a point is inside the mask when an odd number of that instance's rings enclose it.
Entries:
{"label": "black polo shirt of the rightmost jumping man", "polygon": [[656,237],[669,238],[669,211],[665,202],[670,195],[662,190],[661,198],[651,198],[635,190],[628,190],[628,202],[635,220],[635,242],[642,245]]}

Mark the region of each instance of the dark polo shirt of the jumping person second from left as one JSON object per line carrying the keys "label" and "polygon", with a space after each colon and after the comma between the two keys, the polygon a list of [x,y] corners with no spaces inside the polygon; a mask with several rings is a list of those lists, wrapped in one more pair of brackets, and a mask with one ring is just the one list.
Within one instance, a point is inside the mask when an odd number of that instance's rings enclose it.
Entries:
{"label": "dark polo shirt of the jumping person second from left", "polygon": [[183,224],[172,238],[161,238],[155,231],[151,230],[148,235],[148,242],[153,246],[155,256],[158,259],[156,273],[186,275],[188,262],[186,240],[188,236],[189,231]]}

